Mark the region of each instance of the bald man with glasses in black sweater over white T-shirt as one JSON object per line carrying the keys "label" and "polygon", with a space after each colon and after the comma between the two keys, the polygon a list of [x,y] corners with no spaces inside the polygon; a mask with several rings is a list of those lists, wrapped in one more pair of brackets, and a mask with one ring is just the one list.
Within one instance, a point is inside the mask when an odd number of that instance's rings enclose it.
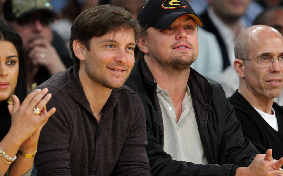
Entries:
{"label": "bald man with glasses in black sweater over white T-shirt", "polygon": [[283,88],[283,37],[274,28],[254,25],[235,42],[234,68],[238,90],[228,100],[234,106],[244,137],[261,152],[271,148],[283,156],[283,108],[274,102]]}

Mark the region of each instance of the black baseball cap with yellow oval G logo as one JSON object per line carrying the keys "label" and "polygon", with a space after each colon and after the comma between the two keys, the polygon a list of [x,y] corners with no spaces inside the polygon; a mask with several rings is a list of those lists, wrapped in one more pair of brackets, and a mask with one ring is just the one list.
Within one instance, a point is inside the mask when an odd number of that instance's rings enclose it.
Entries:
{"label": "black baseball cap with yellow oval G logo", "polygon": [[144,30],[149,27],[166,29],[184,14],[191,16],[198,25],[204,27],[203,20],[187,0],[149,0],[140,9],[137,20]]}

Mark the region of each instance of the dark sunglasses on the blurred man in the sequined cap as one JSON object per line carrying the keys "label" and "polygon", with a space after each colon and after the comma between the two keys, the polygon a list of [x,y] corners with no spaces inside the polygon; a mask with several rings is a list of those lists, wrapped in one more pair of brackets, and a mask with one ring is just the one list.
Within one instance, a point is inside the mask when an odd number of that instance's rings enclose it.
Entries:
{"label": "dark sunglasses on the blurred man in the sequined cap", "polygon": [[43,27],[49,26],[53,22],[53,19],[50,16],[41,15],[40,17],[28,16],[25,18],[20,18],[17,19],[17,23],[21,26],[31,26],[34,25],[36,20],[39,20]]}

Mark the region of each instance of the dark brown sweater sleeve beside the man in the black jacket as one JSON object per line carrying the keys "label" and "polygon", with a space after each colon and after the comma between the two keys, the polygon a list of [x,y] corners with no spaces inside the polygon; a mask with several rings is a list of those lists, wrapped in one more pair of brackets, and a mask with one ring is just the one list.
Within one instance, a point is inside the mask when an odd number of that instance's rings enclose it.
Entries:
{"label": "dark brown sweater sleeve beside the man in the black jacket", "polygon": [[126,138],[119,160],[113,175],[151,175],[148,158],[145,152],[147,145],[145,132],[144,108],[136,95],[135,110],[130,125],[129,135]]}

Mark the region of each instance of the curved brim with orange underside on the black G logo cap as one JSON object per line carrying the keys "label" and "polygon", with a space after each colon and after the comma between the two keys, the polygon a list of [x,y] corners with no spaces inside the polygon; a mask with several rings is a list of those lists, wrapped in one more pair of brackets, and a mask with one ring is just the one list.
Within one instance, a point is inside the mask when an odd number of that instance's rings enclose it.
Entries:
{"label": "curved brim with orange underside on the black G logo cap", "polygon": [[182,16],[182,15],[189,15],[190,17],[192,17],[195,22],[200,25],[200,27],[204,27],[203,21],[202,19],[194,13],[191,12],[173,12],[167,15],[164,15],[163,17],[159,18],[156,22],[153,23],[153,25],[151,25],[154,28],[157,29],[166,29],[167,27],[169,27],[178,17]]}

